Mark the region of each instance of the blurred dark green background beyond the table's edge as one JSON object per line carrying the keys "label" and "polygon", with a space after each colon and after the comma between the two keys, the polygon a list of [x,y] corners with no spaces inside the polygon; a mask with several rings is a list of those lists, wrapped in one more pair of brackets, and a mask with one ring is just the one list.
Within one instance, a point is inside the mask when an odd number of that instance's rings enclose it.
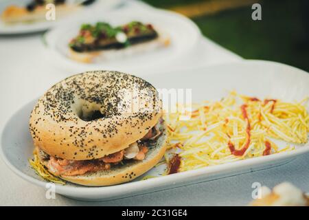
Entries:
{"label": "blurred dark green background beyond the table's edge", "polygon": [[[190,17],[203,34],[243,58],[309,71],[308,0],[143,0]],[[251,5],[262,5],[262,21]]]}

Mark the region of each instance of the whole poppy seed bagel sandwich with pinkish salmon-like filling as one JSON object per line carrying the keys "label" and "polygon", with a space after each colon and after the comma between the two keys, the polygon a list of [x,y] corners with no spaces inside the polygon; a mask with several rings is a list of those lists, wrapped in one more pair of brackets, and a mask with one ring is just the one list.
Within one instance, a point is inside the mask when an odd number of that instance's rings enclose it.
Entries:
{"label": "whole poppy seed bagel sandwich with pinkish salmon-like filling", "polygon": [[162,116],[157,90],[141,78],[109,71],[71,76],[50,88],[32,110],[34,155],[65,181],[122,184],[163,157]]}

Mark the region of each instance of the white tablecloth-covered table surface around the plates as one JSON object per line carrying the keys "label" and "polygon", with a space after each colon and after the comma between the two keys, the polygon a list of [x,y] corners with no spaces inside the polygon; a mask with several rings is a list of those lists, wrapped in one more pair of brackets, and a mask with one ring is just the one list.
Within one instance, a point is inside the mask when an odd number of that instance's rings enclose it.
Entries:
{"label": "white tablecloth-covered table surface around the plates", "polygon": [[[126,1],[122,7],[151,10],[137,1]],[[193,56],[176,61],[179,68],[231,63],[241,58],[224,48],[201,38]],[[54,83],[72,73],[56,69],[49,62],[40,34],[0,36],[0,131],[10,115],[24,104],[44,93]],[[18,62],[16,62],[18,61]],[[168,67],[164,68],[165,70]],[[159,71],[159,69],[158,69]],[[0,160],[1,206],[243,206],[252,200],[253,182],[273,187],[290,181],[309,192],[309,154],[301,155],[288,164],[253,173],[225,177],[199,184],[147,193],[124,199],[102,202],[76,201],[56,195],[46,199],[45,189],[16,176]]]}

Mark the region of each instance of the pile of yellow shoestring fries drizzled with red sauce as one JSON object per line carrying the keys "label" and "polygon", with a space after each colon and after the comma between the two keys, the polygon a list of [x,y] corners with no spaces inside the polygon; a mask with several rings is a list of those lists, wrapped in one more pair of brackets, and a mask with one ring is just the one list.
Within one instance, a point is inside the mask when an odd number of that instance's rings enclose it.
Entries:
{"label": "pile of yellow shoestring fries drizzled with red sauce", "polygon": [[[180,172],[293,151],[291,144],[308,142],[307,101],[260,100],[231,91],[220,101],[194,103],[190,110],[177,104],[176,112],[165,113],[168,148],[177,149]],[[190,119],[181,120],[184,115]]]}

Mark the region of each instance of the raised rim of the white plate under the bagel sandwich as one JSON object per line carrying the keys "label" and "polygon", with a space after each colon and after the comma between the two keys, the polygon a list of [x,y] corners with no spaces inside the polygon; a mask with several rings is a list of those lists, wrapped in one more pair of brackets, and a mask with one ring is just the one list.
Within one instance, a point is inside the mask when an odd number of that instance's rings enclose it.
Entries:
{"label": "raised rim of the white plate under the bagel sandwich", "polygon": [[[219,64],[219,65],[212,65],[208,67],[199,67],[198,69],[207,69],[211,67],[220,67],[222,65],[242,65],[242,64],[247,64],[247,63],[268,63],[268,64],[274,64],[274,65],[283,65],[285,67],[288,67],[290,69],[295,69],[299,71],[299,74],[306,74],[306,77],[309,77],[308,72],[305,72],[302,69],[299,69],[297,67],[292,67],[290,65],[285,65],[282,63],[277,63],[273,61],[261,61],[261,60],[244,60],[244,61],[239,61],[239,62],[233,62],[233,63],[224,63],[224,64]],[[162,73],[163,74],[163,73]],[[155,75],[155,74],[152,74]],[[35,102],[36,99],[31,100],[30,102],[27,102],[27,104],[30,104],[31,102]],[[19,113],[23,107],[27,106],[27,104],[24,104],[22,107],[20,107],[17,111],[15,111],[12,115],[10,115],[10,118],[5,122],[5,125],[3,126],[3,129],[1,129],[1,148],[0,148],[0,155],[3,159],[3,162],[5,162],[6,166],[10,168],[16,175],[19,175],[19,177],[22,177],[26,181],[31,182],[32,184],[35,184],[36,186],[41,186],[45,187],[48,181],[44,181],[41,179],[36,179],[34,177],[31,177],[30,175],[27,175],[23,173],[21,170],[16,168],[11,162],[8,160],[8,158],[5,156],[5,152],[3,151],[3,136],[5,133],[5,129],[8,127],[11,118],[16,115],[16,113]],[[157,178],[152,178],[152,179],[146,179],[146,180],[140,180],[140,181],[130,181],[128,183],[124,184],[118,184],[114,186],[79,186],[79,185],[74,185],[74,186],[62,186],[59,184],[55,184],[56,186],[56,191],[59,192],[60,194],[67,194],[67,193],[73,193],[76,196],[91,196],[91,195],[106,195],[110,193],[111,191],[117,192],[118,194],[122,194],[122,192],[130,192],[133,194],[134,192],[139,192],[139,185],[144,183],[147,183],[146,186],[142,186],[142,190],[148,190],[149,188],[152,188],[153,186],[155,187],[160,187],[160,186],[165,186],[165,184],[168,183],[174,183],[176,181],[181,182],[181,180],[186,177],[186,178],[192,178],[192,177],[198,177],[198,176],[203,176],[205,174],[211,174],[211,173],[217,173],[218,171],[226,171],[227,173],[230,172],[231,170],[243,167],[243,166],[255,166],[258,164],[264,164],[267,162],[276,162],[279,161],[280,159],[293,159],[294,157],[297,157],[298,155],[302,155],[304,153],[309,152],[309,146],[307,143],[307,146],[301,147],[296,149],[295,151],[289,151],[289,152],[282,152],[282,153],[276,153],[273,155],[267,155],[266,157],[253,157],[249,159],[242,159],[240,161],[236,162],[231,162],[227,164],[218,164],[215,166],[207,166],[204,168],[199,168],[196,170],[187,170],[181,173],[176,173],[174,175],[167,175],[167,176],[160,176]],[[124,187],[125,186],[125,187]]]}

